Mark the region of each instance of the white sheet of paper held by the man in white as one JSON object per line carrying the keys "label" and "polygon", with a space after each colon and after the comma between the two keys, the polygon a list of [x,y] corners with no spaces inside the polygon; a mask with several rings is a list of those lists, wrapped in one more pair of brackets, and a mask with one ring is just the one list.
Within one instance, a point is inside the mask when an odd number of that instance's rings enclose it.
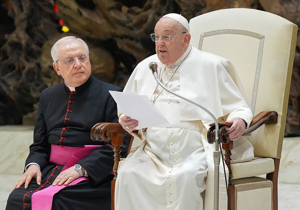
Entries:
{"label": "white sheet of paper held by the man in white", "polygon": [[156,126],[170,126],[146,95],[137,92],[109,91],[125,116],[139,122],[137,130]]}

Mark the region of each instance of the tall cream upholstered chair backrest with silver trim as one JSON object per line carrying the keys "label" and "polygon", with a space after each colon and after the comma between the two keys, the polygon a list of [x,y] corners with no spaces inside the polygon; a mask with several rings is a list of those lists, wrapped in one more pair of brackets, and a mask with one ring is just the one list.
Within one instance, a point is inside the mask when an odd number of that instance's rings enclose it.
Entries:
{"label": "tall cream upholstered chair backrest with silver trim", "polygon": [[253,116],[261,111],[278,113],[277,125],[263,125],[246,137],[255,157],[281,157],[297,31],[283,17],[246,8],[190,19],[190,44],[233,63]]}

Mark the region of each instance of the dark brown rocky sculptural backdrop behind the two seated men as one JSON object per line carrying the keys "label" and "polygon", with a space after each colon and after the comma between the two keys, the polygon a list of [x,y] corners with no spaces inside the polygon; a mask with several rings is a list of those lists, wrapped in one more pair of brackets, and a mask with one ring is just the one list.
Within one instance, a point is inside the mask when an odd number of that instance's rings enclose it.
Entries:
{"label": "dark brown rocky sculptural backdrop behind the two seated men", "polygon": [[[149,34],[166,13],[181,13],[190,20],[213,10],[245,7],[272,12],[300,25],[296,0],[0,0],[0,4],[1,19],[3,6],[8,11],[6,21],[0,23],[0,125],[34,124],[40,92],[63,81],[53,70],[50,56],[51,46],[63,36],[87,41],[93,75],[124,87],[134,67],[155,53]],[[61,31],[60,19],[69,32]],[[286,136],[300,136],[298,46]]]}

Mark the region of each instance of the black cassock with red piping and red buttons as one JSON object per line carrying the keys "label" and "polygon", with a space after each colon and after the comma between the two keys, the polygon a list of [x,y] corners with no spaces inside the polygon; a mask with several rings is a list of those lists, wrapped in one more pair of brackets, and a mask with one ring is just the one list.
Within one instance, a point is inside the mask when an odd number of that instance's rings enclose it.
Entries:
{"label": "black cassock with red piping and red buttons", "polygon": [[[41,185],[32,179],[27,189],[24,184],[13,190],[6,210],[31,209],[31,197],[36,191],[50,186],[63,166],[49,163],[51,144],[82,147],[103,145],[78,163],[88,172],[88,178],[67,186],[53,196],[52,209],[109,210],[111,207],[110,182],[113,179],[113,148],[110,143],[91,140],[91,128],[98,122],[118,122],[116,103],[109,90],[122,91],[90,76],[75,91],[64,84],[53,85],[41,92],[38,116],[34,129],[34,143],[25,166],[37,163],[41,167]],[[124,137],[121,155],[127,152],[128,136]],[[51,176],[52,175],[52,176]]]}

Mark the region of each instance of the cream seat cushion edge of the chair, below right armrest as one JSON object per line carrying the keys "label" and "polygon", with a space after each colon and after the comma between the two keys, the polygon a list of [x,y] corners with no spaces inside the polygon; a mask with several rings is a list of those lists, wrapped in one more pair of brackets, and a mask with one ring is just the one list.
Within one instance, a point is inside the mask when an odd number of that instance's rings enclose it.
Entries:
{"label": "cream seat cushion edge of the chair, below right armrest", "polygon": [[230,168],[231,179],[259,176],[274,171],[274,160],[272,158],[253,158],[248,162],[230,164]]}

